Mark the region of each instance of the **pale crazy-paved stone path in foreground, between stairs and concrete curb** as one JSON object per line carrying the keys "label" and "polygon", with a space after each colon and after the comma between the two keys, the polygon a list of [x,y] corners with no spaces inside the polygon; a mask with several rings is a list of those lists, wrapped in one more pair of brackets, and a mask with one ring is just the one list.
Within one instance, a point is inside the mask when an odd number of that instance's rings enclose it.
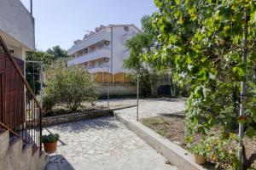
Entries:
{"label": "pale crazy-paved stone path in foreground, between stairs and concrete curb", "polygon": [[63,142],[59,142],[58,159],[50,156],[48,170],[177,170],[113,117],[47,128],[59,133]]}

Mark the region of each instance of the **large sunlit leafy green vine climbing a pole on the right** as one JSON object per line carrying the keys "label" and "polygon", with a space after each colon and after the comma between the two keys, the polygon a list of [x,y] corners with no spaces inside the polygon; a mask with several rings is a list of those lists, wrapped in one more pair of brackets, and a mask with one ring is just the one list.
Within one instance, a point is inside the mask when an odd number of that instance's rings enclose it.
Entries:
{"label": "large sunlit leafy green vine climbing a pole on the right", "polygon": [[[189,81],[188,140],[193,141],[193,133],[202,133],[206,137],[203,139],[210,139],[207,134],[212,127],[224,127],[221,135],[215,133],[211,140],[213,151],[208,150],[209,154],[218,153],[214,156],[218,156],[221,166],[232,161],[229,168],[249,168],[256,154],[247,158],[242,143],[242,161],[233,152],[218,150],[218,145],[238,141],[233,135],[238,123],[246,125],[244,132],[249,138],[256,135],[252,126],[252,122],[256,122],[255,91],[251,90],[255,89],[256,82],[255,3],[242,0],[154,2],[159,12],[152,21],[161,47],[154,55],[144,57],[174,62],[177,80]],[[165,69],[159,62],[154,64]],[[249,90],[242,95],[241,82],[245,82]],[[244,101],[247,102],[243,111]],[[222,159],[219,151],[224,154]]]}

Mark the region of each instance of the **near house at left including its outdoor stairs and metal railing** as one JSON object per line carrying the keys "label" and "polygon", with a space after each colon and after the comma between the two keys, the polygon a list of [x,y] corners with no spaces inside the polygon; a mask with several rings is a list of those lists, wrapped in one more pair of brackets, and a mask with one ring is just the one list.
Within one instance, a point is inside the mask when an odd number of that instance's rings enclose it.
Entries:
{"label": "near house at left including its outdoor stairs and metal railing", "polygon": [[34,18],[20,0],[0,1],[0,37],[0,169],[43,170],[43,110],[24,76]]}

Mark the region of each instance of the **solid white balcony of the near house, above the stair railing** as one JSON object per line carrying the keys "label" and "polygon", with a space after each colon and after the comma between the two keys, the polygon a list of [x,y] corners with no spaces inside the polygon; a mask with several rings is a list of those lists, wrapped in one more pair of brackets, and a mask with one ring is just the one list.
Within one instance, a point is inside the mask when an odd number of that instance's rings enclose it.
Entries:
{"label": "solid white balcony of the near house, above the stair railing", "polygon": [[0,35],[9,47],[35,48],[34,18],[20,0],[1,0]]}

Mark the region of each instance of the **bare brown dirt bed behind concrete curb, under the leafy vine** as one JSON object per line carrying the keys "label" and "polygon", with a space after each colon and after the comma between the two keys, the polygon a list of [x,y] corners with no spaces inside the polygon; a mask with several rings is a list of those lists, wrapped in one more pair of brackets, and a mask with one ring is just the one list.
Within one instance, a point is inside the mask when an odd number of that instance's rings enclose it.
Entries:
{"label": "bare brown dirt bed behind concrete curb, under the leafy vine", "polygon": [[[150,118],[142,119],[141,122],[156,133],[164,136],[166,139],[180,145],[183,149],[187,150],[187,145],[185,141],[186,124],[185,116],[183,115],[165,115],[165,116],[155,116]],[[199,140],[200,136],[195,136],[196,140]],[[244,139],[244,144],[247,150],[247,156],[250,156],[256,151],[256,140]],[[253,164],[256,168],[256,161]]]}

